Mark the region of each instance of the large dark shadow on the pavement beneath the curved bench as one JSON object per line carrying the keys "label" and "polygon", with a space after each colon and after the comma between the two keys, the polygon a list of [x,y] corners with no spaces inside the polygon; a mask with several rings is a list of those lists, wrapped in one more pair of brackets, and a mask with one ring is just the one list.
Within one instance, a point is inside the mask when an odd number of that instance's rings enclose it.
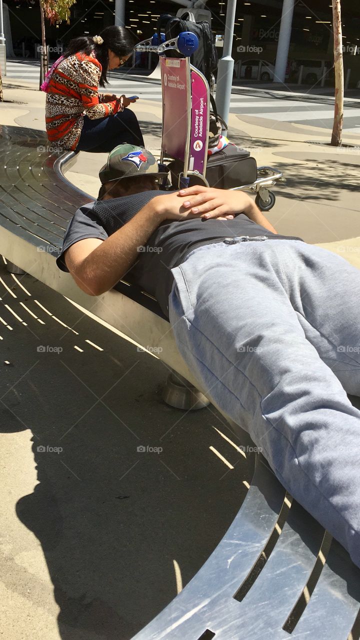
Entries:
{"label": "large dark shadow on the pavement beneath the curved bench", "polygon": [[[237,442],[213,408],[186,414],[163,403],[168,372],[159,360],[35,278],[21,280],[27,295],[2,268],[0,275],[17,296],[0,285],[1,317],[13,329],[1,325],[8,364],[0,431],[16,442],[19,431],[31,430],[38,479],[32,493],[10,500],[10,513],[16,509],[42,547],[60,607],[59,637],[128,640],[176,596],[174,561],[183,585],[206,561],[236,515],[251,472],[218,433]],[[148,445],[162,451],[137,450]],[[22,461],[13,464],[3,488],[10,496]],[[49,607],[51,582],[13,561],[11,586],[34,607]]]}

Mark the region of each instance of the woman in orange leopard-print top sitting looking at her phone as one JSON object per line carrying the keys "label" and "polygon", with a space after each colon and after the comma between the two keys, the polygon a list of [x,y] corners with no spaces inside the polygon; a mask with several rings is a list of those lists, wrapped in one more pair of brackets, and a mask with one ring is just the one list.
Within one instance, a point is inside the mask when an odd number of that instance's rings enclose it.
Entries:
{"label": "woman in orange leopard-print top sitting looking at her phone", "polygon": [[138,119],[127,109],[136,100],[98,93],[98,86],[108,82],[108,71],[122,67],[134,45],[129,30],[117,26],[107,27],[99,36],[70,41],[42,84],[51,143],[95,152],[110,152],[123,142],[143,145]]}

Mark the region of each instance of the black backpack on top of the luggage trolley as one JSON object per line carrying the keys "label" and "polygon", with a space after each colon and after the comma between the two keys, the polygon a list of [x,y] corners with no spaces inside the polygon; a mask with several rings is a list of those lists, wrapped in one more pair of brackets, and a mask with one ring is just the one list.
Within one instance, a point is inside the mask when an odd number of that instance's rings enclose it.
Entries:
{"label": "black backpack on top of the luggage trolley", "polygon": [[[159,42],[161,42],[161,28],[164,26],[165,38],[167,40],[176,38],[182,31],[190,31],[197,35],[199,39],[199,48],[191,56],[190,62],[194,67],[199,69],[199,71],[206,77],[208,83],[210,83],[211,74],[218,67],[218,54],[209,22],[195,22],[193,14],[189,12],[184,13],[181,18],[174,18],[172,15],[165,13],[158,19]],[[170,55],[170,51],[168,53]],[[174,53],[175,52],[171,52],[172,56]]]}

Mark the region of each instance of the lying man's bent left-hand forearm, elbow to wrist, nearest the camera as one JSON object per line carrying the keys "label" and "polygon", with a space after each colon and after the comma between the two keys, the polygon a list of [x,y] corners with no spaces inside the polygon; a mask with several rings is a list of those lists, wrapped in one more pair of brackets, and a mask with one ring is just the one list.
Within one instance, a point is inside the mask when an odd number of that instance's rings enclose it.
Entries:
{"label": "lying man's bent left-hand forearm, elbow to wrist, nearest the camera", "polygon": [[88,289],[93,295],[112,289],[136,262],[139,248],[147,243],[162,221],[156,204],[149,202],[124,227],[94,249],[75,275],[82,282],[91,283]]}

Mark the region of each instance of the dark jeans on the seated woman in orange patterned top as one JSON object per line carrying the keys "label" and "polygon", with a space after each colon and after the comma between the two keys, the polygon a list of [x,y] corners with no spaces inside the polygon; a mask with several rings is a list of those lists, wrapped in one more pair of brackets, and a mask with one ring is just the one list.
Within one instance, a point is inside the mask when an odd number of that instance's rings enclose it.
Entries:
{"label": "dark jeans on the seated woman in orange patterned top", "polygon": [[131,109],[96,120],[84,116],[83,131],[76,150],[109,153],[125,142],[138,147],[144,146],[138,118]]}

